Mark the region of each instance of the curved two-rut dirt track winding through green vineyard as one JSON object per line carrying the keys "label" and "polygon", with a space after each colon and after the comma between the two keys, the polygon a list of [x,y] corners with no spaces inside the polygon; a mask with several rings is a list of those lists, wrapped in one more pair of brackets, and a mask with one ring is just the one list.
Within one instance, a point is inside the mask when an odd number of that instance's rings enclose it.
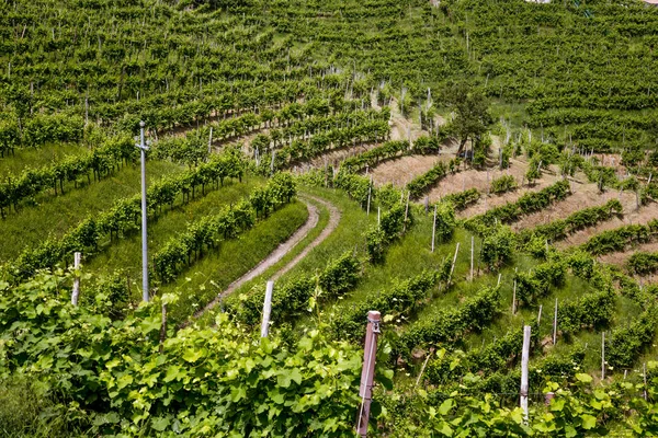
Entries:
{"label": "curved two-rut dirt track winding through green vineyard", "polygon": [[310,242],[308,244],[308,246],[306,246],[304,249],[304,251],[302,251],[299,254],[297,254],[297,256],[295,256],[292,261],[290,261],[284,267],[282,267],[276,273],[274,273],[274,275],[272,275],[272,277],[270,279],[275,280],[275,279],[280,278],[282,275],[284,275],[285,273],[287,273],[288,270],[291,270],[293,267],[295,267],[295,265],[297,263],[299,263],[304,257],[306,257],[314,247],[316,247],[320,243],[322,243],[325,241],[325,239],[327,239],[333,232],[333,230],[336,230],[336,228],[338,227],[338,223],[340,222],[341,215],[340,215],[340,210],[333,204],[331,204],[327,200],[320,199],[318,197],[310,196],[310,195],[302,195],[299,198],[306,204],[306,208],[308,209],[308,219],[306,220],[306,222],[302,227],[299,227],[297,229],[297,231],[295,231],[288,240],[281,243],[276,247],[276,250],[271,252],[258,265],[256,265],[253,268],[251,268],[251,270],[249,270],[248,273],[242,275],[240,278],[238,278],[230,285],[228,285],[226,290],[224,290],[222,293],[219,293],[206,307],[204,307],[203,309],[197,311],[194,314],[194,318],[198,318],[198,316],[203,315],[205,312],[207,312],[208,310],[211,310],[215,306],[217,306],[224,297],[235,292],[240,286],[242,286],[247,281],[252,280],[253,278],[258,277],[259,275],[262,275],[270,267],[274,266],[287,253],[290,253],[299,242],[302,242],[313,229],[315,229],[317,227],[318,221],[320,219],[320,211],[319,211],[318,207],[316,207],[315,205],[309,203],[309,199],[327,207],[327,209],[329,210],[329,223],[327,223],[327,227],[325,227],[325,229],[320,232],[320,234],[313,242]]}

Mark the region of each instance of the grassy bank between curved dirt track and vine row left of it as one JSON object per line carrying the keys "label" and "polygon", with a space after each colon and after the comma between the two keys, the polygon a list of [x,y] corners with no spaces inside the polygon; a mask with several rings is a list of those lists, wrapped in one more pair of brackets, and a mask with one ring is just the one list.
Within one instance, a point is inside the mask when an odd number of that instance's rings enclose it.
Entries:
{"label": "grassy bank between curved dirt track and vine row left of it", "polygon": [[304,203],[296,200],[288,204],[238,239],[222,242],[217,250],[197,261],[177,281],[161,286],[159,293],[179,295],[178,302],[171,307],[171,318],[182,321],[203,308],[287,240],[307,218]]}

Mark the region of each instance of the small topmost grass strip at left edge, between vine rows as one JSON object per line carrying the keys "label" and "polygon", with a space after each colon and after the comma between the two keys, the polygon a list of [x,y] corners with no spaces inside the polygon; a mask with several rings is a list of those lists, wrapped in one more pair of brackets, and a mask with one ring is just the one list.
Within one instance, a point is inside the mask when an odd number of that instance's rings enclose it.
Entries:
{"label": "small topmost grass strip at left edge, between vine rows", "polygon": [[13,155],[0,158],[0,175],[20,174],[25,169],[36,169],[63,160],[69,155],[81,155],[88,152],[83,146],[76,143],[44,145],[39,148],[16,149]]}

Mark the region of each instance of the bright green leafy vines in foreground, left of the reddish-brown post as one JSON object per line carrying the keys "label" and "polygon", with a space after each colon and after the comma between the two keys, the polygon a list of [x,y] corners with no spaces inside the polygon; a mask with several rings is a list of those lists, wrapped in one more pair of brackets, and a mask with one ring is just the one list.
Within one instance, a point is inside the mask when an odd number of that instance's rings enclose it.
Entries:
{"label": "bright green leafy vines in foreground, left of the reddish-brown post", "polygon": [[355,347],[318,331],[290,347],[276,336],[256,343],[227,315],[213,328],[169,330],[159,343],[159,300],[112,323],[93,307],[72,307],[66,283],[39,275],[2,285],[0,374],[38,382],[71,425],[131,436],[351,433],[361,400]]}

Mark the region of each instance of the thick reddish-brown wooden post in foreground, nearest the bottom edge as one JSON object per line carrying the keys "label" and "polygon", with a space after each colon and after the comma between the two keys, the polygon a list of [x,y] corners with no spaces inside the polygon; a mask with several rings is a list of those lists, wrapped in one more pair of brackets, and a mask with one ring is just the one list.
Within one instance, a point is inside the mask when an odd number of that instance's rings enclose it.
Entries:
{"label": "thick reddish-brown wooden post in foreground, nearest the bottom edge", "polygon": [[363,348],[363,368],[361,370],[361,384],[359,396],[361,396],[361,408],[356,422],[356,434],[360,437],[367,435],[367,423],[370,419],[370,407],[373,399],[373,379],[375,374],[375,358],[377,356],[377,335],[382,315],[371,310],[367,312],[367,327],[365,330],[365,345]]}

